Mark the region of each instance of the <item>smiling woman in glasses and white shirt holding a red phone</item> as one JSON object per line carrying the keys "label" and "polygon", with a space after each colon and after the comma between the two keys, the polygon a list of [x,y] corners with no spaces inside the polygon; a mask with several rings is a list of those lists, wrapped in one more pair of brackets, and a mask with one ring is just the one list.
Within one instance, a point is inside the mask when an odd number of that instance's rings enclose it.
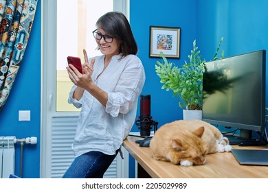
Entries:
{"label": "smiling woman in glasses and white shirt holding a red phone", "polygon": [[74,83],[69,103],[81,108],[72,148],[76,158],[63,178],[102,178],[135,122],[145,81],[137,45],[124,14],[108,12],[93,31],[102,56],[84,50],[82,73],[67,67]]}

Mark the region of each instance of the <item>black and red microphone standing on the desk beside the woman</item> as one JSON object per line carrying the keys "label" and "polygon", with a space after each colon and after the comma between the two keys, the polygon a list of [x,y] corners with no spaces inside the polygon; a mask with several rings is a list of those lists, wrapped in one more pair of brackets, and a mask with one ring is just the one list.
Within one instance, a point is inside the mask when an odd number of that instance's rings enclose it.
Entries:
{"label": "black and red microphone standing on the desk beside the woman", "polygon": [[150,116],[150,95],[140,95],[140,115],[136,120],[141,136],[150,136],[150,129],[157,130],[158,122]]}

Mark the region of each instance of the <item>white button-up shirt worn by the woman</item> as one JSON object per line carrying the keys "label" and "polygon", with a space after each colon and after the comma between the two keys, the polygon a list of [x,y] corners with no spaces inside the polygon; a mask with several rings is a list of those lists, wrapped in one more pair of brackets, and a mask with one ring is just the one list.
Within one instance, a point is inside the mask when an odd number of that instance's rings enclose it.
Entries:
{"label": "white button-up shirt worn by the woman", "polygon": [[115,154],[135,122],[137,100],[145,82],[144,67],[137,56],[118,60],[120,57],[113,56],[104,71],[104,56],[95,58],[91,78],[108,93],[105,107],[87,91],[79,101],[72,98],[76,86],[71,88],[68,102],[81,108],[72,145],[75,156],[89,151]]}

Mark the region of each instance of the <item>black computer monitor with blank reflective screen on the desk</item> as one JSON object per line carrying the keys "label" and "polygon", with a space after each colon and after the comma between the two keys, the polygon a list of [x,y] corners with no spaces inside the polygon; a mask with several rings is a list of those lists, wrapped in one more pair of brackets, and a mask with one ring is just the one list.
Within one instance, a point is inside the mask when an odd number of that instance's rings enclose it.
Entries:
{"label": "black computer monitor with blank reflective screen on the desk", "polygon": [[[203,121],[265,136],[266,51],[205,62]],[[252,134],[241,135],[250,138]]]}

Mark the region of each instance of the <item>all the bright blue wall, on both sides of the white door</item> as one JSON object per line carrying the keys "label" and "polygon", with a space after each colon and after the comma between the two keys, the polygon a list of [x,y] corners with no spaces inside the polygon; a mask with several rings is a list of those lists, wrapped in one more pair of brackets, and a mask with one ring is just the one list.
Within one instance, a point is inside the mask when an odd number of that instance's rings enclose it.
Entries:
{"label": "all the bright blue wall, on both sides of the white door", "polygon": [[[182,118],[182,110],[171,92],[161,90],[155,63],[159,58],[149,58],[149,27],[181,27],[181,51],[179,59],[169,59],[177,65],[188,60],[192,41],[203,58],[212,59],[223,36],[225,56],[268,50],[268,1],[266,0],[131,0],[131,27],[139,46],[139,58],[146,71],[146,84],[142,94],[151,95],[151,115],[159,126]],[[31,121],[19,121],[19,110],[31,110]],[[139,116],[139,109],[137,112]],[[0,112],[0,136],[16,138],[37,136],[38,145],[25,145],[23,177],[40,175],[41,132],[41,0],[32,28],[29,43],[16,77],[14,87],[5,108]],[[134,125],[132,131],[139,131]],[[20,145],[16,144],[16,168],[19,175]],[[134,164],[131,159],[131,177]]]}

